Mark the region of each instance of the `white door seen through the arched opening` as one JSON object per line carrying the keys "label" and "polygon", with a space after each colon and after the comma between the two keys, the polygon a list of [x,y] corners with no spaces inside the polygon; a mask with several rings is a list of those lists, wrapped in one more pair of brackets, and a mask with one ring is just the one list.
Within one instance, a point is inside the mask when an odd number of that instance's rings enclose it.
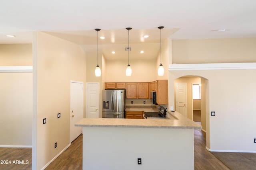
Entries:
{"label": "white door seen through the arched opening", "polygon": [[187,84],[176,83],[176,111],[187,117]]}

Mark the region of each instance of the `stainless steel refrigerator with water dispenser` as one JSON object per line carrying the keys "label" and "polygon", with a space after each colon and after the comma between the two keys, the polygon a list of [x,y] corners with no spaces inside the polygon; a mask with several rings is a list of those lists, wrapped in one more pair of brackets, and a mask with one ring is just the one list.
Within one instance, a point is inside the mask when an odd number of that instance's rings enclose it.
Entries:
{"label": "stainless steel refrigerator with water dispenser", "polygon": [[102,100],[102,118],[124,118],[125,90],[103,90]]}

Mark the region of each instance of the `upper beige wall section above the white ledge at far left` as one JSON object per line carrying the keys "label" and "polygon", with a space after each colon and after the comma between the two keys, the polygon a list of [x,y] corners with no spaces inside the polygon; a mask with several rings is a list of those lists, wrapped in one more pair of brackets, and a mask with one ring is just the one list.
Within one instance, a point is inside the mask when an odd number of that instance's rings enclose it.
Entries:
{"label": "upper beige wall section above the white ledge at far left", "polygon": [[32,66],[32,44],[0,44],[0,66]]}

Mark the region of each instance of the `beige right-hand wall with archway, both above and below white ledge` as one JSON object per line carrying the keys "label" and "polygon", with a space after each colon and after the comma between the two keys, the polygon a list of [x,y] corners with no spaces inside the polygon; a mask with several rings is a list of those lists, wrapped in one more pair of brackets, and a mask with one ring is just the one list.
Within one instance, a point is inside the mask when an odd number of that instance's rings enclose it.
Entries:
{"label": "beige right-hand wall with archway, both above and below white ledge", "polygon": [[[255,47],[256,38],[173,40],[170,63],[256,62]],[[256,128],[256,70],[169,71],[170,106],[174,106],[175,79],[187,75],[202,77],[205,104],[202,100],[201,119],[206,120],[202,122],[206,147],[212,151],[255,152],[251,129]],[[215,111],[216,116],[210,116],[210,111]]]}

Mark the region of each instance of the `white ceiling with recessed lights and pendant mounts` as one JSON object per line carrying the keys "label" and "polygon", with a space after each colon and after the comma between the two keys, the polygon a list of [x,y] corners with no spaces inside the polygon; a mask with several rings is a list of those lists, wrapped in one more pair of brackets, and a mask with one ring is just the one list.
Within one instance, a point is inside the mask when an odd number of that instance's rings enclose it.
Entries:
{"label": "white ceiling with recessed lights and pendant mounts", "polygon": [[[162,39],[256,37],[255,0],[1,0],[0,43],[32,43],[32,31],[46,31],[78,43],[106,59],[154,59]],[[218,29],[226,31],[218,32]],[[142,35],[150,37],[143,39]],[[10,38],[6,35],[16,35]],[[144,54],[139,51],[144,50]],[[111,51],[116,51],[112,54]]]}

